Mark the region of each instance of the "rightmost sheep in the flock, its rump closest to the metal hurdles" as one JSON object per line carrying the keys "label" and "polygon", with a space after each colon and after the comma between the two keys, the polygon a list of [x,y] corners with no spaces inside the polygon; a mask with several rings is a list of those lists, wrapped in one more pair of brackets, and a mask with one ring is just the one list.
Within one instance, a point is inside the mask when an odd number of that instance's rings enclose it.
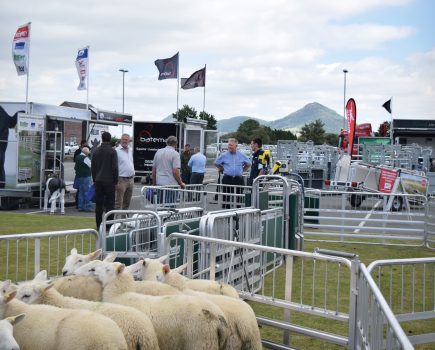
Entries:
{"label": "rightmost sheep in the flock, its rump closest to the metal hurdles", "polygon": [[[227,297],[225,295],[208,294],[192,291],[186,288],[186,278],[168,265],[162,265],[161,273],[157,276],[160,282],[182,290],[184,293],[207,298],[215,303],[225,313],[230,328],[230,337],[227,349],[261,350],[261,335],[257,319],[252,308],[243,300]],[[189,280],[187,280],[189,281]]]}

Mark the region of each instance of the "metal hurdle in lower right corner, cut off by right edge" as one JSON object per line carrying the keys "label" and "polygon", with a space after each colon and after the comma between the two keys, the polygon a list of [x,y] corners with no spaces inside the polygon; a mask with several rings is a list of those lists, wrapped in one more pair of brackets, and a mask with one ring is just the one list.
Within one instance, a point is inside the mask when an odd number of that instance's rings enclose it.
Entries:
{"label": "metal hurdle in lower right corner, cut off by right edge", "polygon": [[435,347],[435,257],[377,260],[367,270],[411,343]]}

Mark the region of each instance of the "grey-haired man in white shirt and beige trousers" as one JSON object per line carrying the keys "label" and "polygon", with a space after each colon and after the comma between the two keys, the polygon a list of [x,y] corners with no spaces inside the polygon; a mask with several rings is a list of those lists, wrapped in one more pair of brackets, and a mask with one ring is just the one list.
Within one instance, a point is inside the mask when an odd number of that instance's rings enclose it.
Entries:
{"label": "grey-haired man in white shirt and beige trousers", "polygon": [[118,154],[118,184],[116,185],[115,209],[128,210],[134,188],[133,152],[129,147],[130,135],[123,134],[116,148]]}

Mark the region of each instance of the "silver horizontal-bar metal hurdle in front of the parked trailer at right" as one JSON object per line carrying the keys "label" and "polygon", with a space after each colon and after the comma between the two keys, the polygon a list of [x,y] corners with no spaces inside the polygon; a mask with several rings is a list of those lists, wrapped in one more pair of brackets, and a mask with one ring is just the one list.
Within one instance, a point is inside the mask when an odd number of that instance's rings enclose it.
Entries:
{"label": "silver horizontal-bar metal hurdle in front of the parked trailer at right", "polygon": [[[343,243],[422,246],[426,244],[427,198],[421,195],[307,190],[305,239]],[[354,196],[360,197],[356,201]],[[401,211],[391,211],[399,200]],[[356,206],[358,202],[359,206]]]}

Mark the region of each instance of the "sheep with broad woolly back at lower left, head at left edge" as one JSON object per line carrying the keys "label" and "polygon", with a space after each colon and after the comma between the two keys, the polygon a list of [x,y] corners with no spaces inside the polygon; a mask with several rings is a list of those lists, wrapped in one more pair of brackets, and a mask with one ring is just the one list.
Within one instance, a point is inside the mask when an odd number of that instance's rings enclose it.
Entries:
{"label": "sheep with broad woolly back at lower left, head at left edge", "polygon": [[[8,290],[10,282],[1,285]],[[127,343],[115,322],[87,310],[59,309],[48,305],[27,305],[13,299],[16,291],[3,294],[0,317],[25,313],[14,327],[22,349],[32,350],[126,350]]]}

